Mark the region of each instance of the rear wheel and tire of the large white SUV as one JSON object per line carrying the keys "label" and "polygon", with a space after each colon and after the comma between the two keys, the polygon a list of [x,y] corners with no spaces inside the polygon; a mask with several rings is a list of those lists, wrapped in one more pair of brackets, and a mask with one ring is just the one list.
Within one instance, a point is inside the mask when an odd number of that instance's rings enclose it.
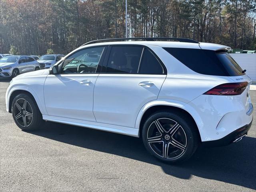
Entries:
{"label": "rear wheel and tire of the large white SUV", "polygon": [[175,111],[152,114],[142,128],[146,150],[154,157],[170,164],[188,160],[199,144],[192,120]]}

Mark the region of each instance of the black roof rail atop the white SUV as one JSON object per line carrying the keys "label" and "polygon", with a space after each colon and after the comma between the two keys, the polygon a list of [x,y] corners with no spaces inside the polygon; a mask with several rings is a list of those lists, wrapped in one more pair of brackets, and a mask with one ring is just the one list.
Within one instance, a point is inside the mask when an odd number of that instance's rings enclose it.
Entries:
{"label": "black roof rail atop the white SUV", "polygon": [[173,38],[173,37],[134,37],[134,38],[112,38],[112,39],[99,39],[87,42],[81,46],[93,44],[93,43],[99,43],[99,42],[109,42],[109,41],[127,41],[127,40],[144,40],[144,41],[155,41],[155,40],[176,40],[179,42],[186,42],[186,43],[199,43],[192,39],[187,38]]}

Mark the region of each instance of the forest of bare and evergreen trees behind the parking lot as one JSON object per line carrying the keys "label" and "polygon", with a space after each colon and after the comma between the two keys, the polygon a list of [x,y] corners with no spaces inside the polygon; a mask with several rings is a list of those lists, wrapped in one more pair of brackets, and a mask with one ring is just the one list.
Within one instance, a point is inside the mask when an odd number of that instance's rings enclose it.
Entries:
{"label": "forest of bare and evergreen trees behind the parking lot", "polygon": [[[125,37],[125,0],[0,0],[0,53],[67,54]],[[128,37],[182,37],[256,49],[256,0],[128,0]]]}

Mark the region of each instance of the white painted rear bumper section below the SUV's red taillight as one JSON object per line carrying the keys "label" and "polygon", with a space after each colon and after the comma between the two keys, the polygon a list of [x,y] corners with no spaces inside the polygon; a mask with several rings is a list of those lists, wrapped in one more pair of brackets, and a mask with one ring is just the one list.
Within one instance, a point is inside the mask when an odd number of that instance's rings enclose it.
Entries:
{"label": "white painted rear bumper section below the SUV's red taillight", "polygon": [[202,142],[220,140],[252,121],[253,106],[248,90],[236,96],[202,94],[184,108],[194,118]]}

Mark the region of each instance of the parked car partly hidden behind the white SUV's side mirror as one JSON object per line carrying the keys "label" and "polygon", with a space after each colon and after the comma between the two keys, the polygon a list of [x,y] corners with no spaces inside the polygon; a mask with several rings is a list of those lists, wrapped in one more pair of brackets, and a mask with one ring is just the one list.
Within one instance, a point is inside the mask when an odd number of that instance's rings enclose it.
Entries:
{"label": "parked car partly hidden behind the white SUV's side mirror", "polygon": [[37,61],[40,63],[40,69],[47,69],[61,60],[63,57],[64,55],[60,54],[42,55]]}

